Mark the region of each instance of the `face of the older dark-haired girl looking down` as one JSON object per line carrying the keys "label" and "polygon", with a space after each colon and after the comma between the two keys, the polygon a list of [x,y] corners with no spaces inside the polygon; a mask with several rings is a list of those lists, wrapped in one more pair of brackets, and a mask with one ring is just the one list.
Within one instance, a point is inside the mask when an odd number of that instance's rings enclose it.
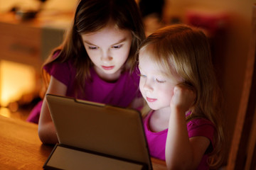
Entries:
{"label": "face of the older dark-haired girl looking down", "polygon": [[132,33],[112,25],[82,35],[85,50],[102,79],[118,79],[132,44]]}

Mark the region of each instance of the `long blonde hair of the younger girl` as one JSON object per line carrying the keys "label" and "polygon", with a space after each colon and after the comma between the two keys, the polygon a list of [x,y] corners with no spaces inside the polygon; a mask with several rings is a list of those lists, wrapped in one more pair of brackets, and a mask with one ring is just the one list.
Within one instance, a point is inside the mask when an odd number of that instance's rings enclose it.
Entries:
{"label": "long blonde hair of the younger girl", "polygon": [[214,149],[210,153],[210,167],[222,163],[223,124],[221,119],[220,89],[210,55],[208,38],[202,30],[186,25],[166,26],[149,35],[140,45],[140,52],[152,52],[151,60],[176,72],[183,83],[196,92],[195,105],[187,122],[194,118],[206,118],[215,125]]}

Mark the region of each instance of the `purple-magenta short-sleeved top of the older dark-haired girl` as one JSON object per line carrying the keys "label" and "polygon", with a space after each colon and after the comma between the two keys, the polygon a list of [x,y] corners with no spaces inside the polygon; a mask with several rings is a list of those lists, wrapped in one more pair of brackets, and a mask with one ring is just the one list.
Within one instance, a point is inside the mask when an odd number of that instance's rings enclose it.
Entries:
{"label": "purple-magenta short-sleeved top of the older dark-haired girl", "polygon": [[[68,87],[66,96],[75,97],[74,84],[76,69],[73,67],[72,62],[50,63],[46,64],[43,68],[51,76]],[[77,98],[127,107],[134,98],[140,96],[139,76],[137,74],[139,69],[135,70],[132,74],[123,72],[117,81],[110,83],[100,79],[92,67],[90,69],[91,79],[85,81],[85,93],[83,94],[80,91]]]}

